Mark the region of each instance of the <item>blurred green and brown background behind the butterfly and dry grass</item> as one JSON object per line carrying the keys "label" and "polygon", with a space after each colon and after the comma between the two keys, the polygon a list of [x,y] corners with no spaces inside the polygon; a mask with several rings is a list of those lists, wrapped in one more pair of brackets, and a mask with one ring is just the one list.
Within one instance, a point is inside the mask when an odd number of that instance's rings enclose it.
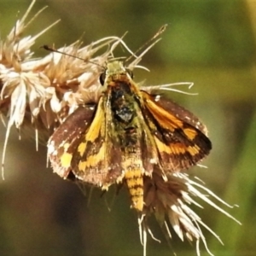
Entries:
{"label": "blurred green and brown background behind the butterfly and dry grass", "polygon": [[[0,0],[0,32],[5,38],[31,1]],[[49,0],[39,1],[31,17],[44,11],[26,29],[33,35],[53,21],[61,23],[39,38],[33,50],[43,56],[42,44],[61,47],[83,34],[84,44],[107,36],[125,36],[138,49],[159,27],[168,23],[162,40],[140,63],[150,73],[135,73],[148,84],[193,81],[199,96],[172,93],[171,97],[207,125],[213,149],[191,174],[206,182],[231,205],[236,224],[206,203],[195,209],[224,241],[224,247],[204,234],[215,255],[256,255],[256,76],[255,1],[236,0]],[[20,11],[20,12],[18,12]],[[123,53],[125,55],[125,53]],[[0,255],[143,255],[136,212],[130,209],[125,189],[114,199],[111,212],[93,191],[88,196],[73,183],[61,180],[46,168],[46,148],[35,150],[26,137],[18,140],[13,129],[0,183]],[[0,155],[5,128],[0,125]],[[111,195],[108,201],[112,201]],[[148,237],[148,256],[195,255],[195,244],[173,234],[172,249],[154,224],[160,244]],[[172,251],[173,250],[173,251]],[[207,255],[201,244],[201,254]]]}

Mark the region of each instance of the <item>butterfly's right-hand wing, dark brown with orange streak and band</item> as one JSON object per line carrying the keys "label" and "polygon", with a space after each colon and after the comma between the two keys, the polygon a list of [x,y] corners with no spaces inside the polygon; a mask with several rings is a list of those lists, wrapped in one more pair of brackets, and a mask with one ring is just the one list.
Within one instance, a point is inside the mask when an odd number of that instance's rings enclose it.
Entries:
{"label": "butterfly's right-hand wing, dark brown with orange streak and band", "polygon": [[142,91],[144,119],[158,148],[159,163],[165,172],[195,166],[212,148],[206,127],[188,110],[170,100]]}

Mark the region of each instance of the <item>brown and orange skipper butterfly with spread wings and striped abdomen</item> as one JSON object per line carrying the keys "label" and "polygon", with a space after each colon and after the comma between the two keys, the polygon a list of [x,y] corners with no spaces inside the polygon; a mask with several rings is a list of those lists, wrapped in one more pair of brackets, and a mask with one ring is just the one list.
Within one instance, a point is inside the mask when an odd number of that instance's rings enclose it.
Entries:
{"label": "brown and orange skipper butterfly with spread wings and striped abdomen", "polygon": [[108,61],[97,103],[77,108],[49,138],[51,166],[63,178],[108,190],[125,183],[143,212],[143,179],[195,166],[212,143],[193,113],[141,90],[122,61]]}

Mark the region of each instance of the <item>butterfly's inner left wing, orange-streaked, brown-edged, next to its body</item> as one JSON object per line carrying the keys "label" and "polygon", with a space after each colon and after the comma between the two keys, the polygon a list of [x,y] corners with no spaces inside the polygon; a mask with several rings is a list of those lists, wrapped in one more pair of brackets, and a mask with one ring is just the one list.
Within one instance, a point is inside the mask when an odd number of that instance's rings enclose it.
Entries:
{"label": "butterfly's inner left wing, orange-streaked, brown-edged, next to its body", "polygon": [[90,127],[80,137],[71,162],[75,177],[105,189],[121,175],[121,153],[107,104],[108,96],[101,97]]}

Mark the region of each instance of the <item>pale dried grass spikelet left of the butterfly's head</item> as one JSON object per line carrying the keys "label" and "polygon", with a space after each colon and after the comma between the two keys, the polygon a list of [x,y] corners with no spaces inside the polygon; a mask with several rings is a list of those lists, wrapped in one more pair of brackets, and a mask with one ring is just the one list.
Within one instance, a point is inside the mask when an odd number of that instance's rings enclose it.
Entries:
{"label": "pale dried grass spikelet left of the butterfly's head", "polygon": [[[99,74],[119,38],[102,38],[81,47],[77,41],[61,50],[72,56],[50,53],[42,59],[32,59],[31,47],[36,39],[54,24],[35,36],[23,37],[26,27],[44,10],[41,9],[32,20],[26,18],[35,1],[5,40],[0,41],[0,114],[8,118],[3,161],[13,125],[20,130],[28,127],[47,134],[58,126],[79,104],[96,102],[98,98]],[[93,56],[99,49],[106,48],[101,55]],[[95,63],[95,64],[94,64]],[[22,129],[23,130],[23,129]]]}

